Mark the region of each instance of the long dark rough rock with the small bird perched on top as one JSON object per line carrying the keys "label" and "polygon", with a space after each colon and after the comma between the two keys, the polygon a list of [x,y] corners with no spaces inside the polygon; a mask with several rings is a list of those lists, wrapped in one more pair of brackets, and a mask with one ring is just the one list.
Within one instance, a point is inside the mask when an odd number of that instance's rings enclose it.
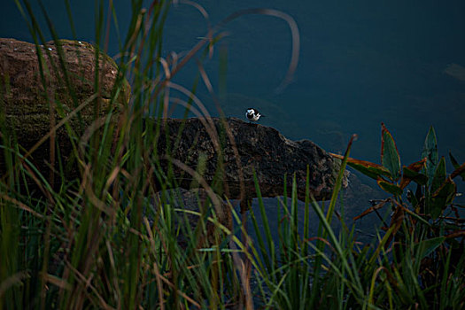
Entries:
{"label": "long dark rough rock with the small bird perched on top", "polygon": [[[218,118],[209,119],[208,121],[214,124],[208,127],[209,130],[202,121],[205,120],[198,118],[165,120],[163,126],[165,129],[160,136],[164,137],[167,130],[168,140],[171,142],[176,141],[180,127],[184,127],[179,145],[175,145],[173,150],[167,149],[165,138],[160,138],[158,141],[159,158],[170,159],[164,161],[165,167],[170,161],[180,161],[188,167],[197,168],[208,184],[216,182],[220,184],[226,197],[241,200],[257,197],[253,182],[254,171],[262,197],[283,195],[284,174],[287,175],[287,191],[291,193],[292,178],[295,175],[298,198],[303,200],[308,166],[310,193],[316,199],[330,198],[340,160],[329,156],[315,143],[308,140],[291,141],[275,128],[249,124],[236,118],[229,118],[225,122]],[[225,128],[229,128],[231,136],[234,137],[236,154]],[[215,139],[221,144],[220,150],[215,150],[212,143]],[[222,166],[219,165],[221,162],[219,159],[222,159]],[[199,167],[198,163],[202,161],[205,165],[201,164]],[[176,163],[174,163],[174,175],[183,188],[189,189],[196,185],[193,177]],[[347,186],[346,174],[343,186]]]}

